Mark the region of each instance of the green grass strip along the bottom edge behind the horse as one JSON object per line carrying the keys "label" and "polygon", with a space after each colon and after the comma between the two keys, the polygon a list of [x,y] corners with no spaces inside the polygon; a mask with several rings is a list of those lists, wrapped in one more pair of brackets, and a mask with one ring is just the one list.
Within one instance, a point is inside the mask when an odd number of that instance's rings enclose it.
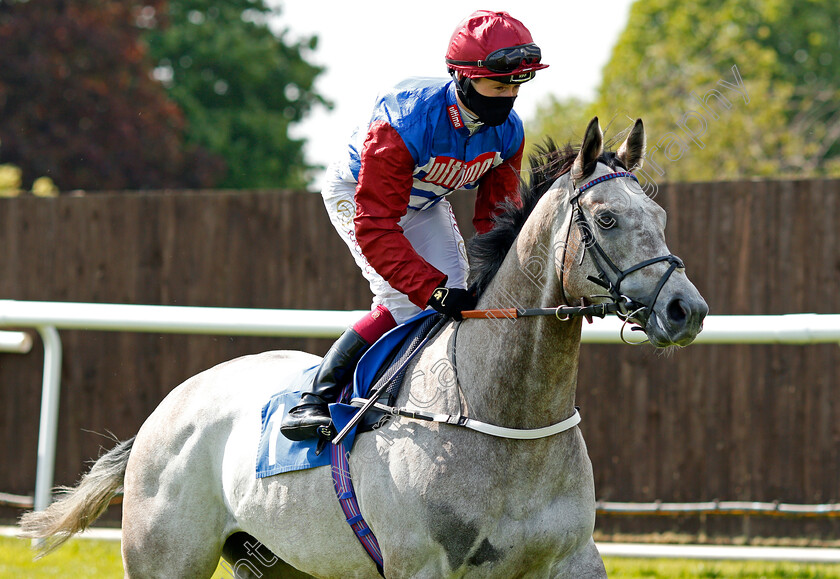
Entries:
{"label": "green grass strip along the bottom edge behind the horse", "polygon": [[[610,579],[840,579],[840,565],[716,562],[682,559],[604,559]],[[0,579],[120,579],[116,541],[72,539],[51,555],[32,561],[29,541],[0,537]],[[213,579],[230,579],[217,569]]]}

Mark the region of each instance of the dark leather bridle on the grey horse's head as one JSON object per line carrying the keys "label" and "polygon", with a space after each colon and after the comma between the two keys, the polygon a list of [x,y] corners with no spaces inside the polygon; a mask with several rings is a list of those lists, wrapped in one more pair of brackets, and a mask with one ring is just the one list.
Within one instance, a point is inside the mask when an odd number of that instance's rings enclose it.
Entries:
{"label": "dark leather bridle on the grey horse's head", "polygon": [[[674,254],[663,255],[660,257],[654,257],[651,259],[646,259],[637,263],[636,265],[632,265],[627,269],[621,269],[610,259],[604,249],[601,247],[601,244],[598,243],[598,240],[595,237],[594,229],[592,225],[590,225],[589,221],[586,219],[586,216],[583,213],[583,210],[580,207],[580,198],[581,196],[589,189],[594,187],[599,183],[603,183],[604,181],[609,181],[610,179],[618,179],[620,177],[628,177],[633,179],[637,183],[639,182],[636,179],[636,176],[633,173],[627,171],[618,171],[615,173],[608,173],[606,175],[602,175],[595,179],[592,179],[588,183],[581,185],[580,187],[575,186],[575,180],[573,177],[570,176],[570,180],[572,183],[573,193],[569,195],[569,205],[572,207],[572,221],[577,225],[578,231],[580,232],[581,242],[583,244],[583,253],[581,254],[580,261],[583,262],[584,256],[586,254],[586,249],[590,248],[592,250],[592,261],[595,263],[595,267],[598,269],[598,276],[587,276],[587,279],[593,283],[598,284],[599,286],[603,287],[609,292],[609,297],[613,300],[613,302],[617,306],[616,314],[624,319],[625,321],[634,321],[642,326],[644,329],[644,325],[647,323],[647,320],[650,319],[650,315],[653,313],[653,306],[656,304],[656,299],[659,297],[659,293],[662,291],[662,287],[668,281],[668,278],[671,277],[671,274],[674,273],[674,270],[677,268],[684,268],[685,265],[683,261]],[[571,233],[571,224],[569,225],[569,229],[566,232],[566,244],[563,248],[563,261],[561,262],[560,267],[560,291],[563,294],[564,301],[566,300],[566,291],[563,287],[563,273],[565,271],[566,266],[566,251],[569,247],[569,234]],[[639,271],[645,267],[653,265],[655,263],[659,263],[661,261],[667,261],[670,266],[662,274],[662,277],[659,278],[659,282],[656,284],[654,290],[648,295],[647,297],[643,298],[631,298],[621,293],[621,282],[633,272]]]}

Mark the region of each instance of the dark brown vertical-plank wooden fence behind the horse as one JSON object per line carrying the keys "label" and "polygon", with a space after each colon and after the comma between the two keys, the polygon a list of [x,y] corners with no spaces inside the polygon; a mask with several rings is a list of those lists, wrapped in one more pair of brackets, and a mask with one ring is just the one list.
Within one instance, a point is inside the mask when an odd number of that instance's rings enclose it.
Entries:
{"label": "dark brown vertical-plank wooden fence behind the horse", "polygon": [[[838,194],[838,180],[750,181],[666,184],[656,200],[669,247],[711,313],[838,313]],[[453,196],[466,236],[472,201]],[[0,299],[364,309],[370,294],[318,195],[163,192],[0,199]],[[58,484],[111,446],[102,433],[132,436],[185,378],[241,354],[322,354],[330,343],[83,331],[62,340]],[[0,355],[3,492],[34,486],[42,360],[40,345]],[[578,403],[600,499],[840,501],[837,345],[697,345],[665,356],[584,345]],[[599,520],[616,532],[662,525]],[[697,533],[711,523],[664,525]],[[742,521],[712,526],[744,532]],[[754,521],[749,532],[839,528]]]}

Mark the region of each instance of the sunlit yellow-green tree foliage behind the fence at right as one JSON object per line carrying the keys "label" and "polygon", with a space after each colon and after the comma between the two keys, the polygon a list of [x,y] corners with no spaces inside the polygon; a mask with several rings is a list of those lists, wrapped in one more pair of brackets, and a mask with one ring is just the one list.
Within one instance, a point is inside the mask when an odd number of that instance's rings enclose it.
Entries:
{"label": "sunlit yellow-green tree foliage behind the fence at right", "polygon": [[642,117],[654,180],[840,174],[838,30],[835,0],[636,2],[587,114]]}

